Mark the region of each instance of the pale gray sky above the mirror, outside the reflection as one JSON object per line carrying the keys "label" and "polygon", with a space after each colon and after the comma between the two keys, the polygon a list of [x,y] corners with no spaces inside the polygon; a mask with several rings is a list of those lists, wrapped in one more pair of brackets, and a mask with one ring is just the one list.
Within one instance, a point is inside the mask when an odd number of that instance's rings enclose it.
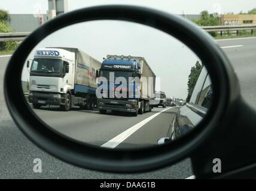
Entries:
{"label": "pale gray sky above the mirror, outside the reflection", "polygon": [[[255,0],[69,0],[68,9],[89,7],[103,4],[133,4],[152,7],[174,14],[199,14],[202,10],[209,12],[239,13],[256,7]],[[15,5],[15,6],[14,6]],[[35,8],[41,6],[42,13],[48,10],[48,0],[0,0],[0,8],[10,11],[12,14],[32,14]]]}

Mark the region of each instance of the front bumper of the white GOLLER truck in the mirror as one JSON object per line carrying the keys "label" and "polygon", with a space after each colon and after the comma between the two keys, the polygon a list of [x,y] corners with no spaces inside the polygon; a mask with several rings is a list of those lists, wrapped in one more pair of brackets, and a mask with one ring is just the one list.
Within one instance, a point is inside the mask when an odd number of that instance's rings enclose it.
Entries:
{"label": "front bumper of the white GOLLER truck in the mirror", "polygon": [[[56,97],[56,95],[60,95]],[[65,104],[64,94],[58,93],[38,93],[33,92],[32,95],[29,94],[29,103],[41,104],[41,105],[55,105],[59,106]]]}

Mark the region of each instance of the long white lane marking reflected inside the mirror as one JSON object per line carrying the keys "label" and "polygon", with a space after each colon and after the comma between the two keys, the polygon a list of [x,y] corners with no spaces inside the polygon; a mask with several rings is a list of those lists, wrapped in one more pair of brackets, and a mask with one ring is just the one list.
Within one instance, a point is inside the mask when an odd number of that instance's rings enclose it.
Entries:
{"label": "long white lane marking reflected inside the mirror", "polygon": [[[167,109],[170,109],[170,108],[171,107],[169,107]],[[152,119],[156,118],[156,116],[159,115],[160,113],[165,112],[167,109],[161,110],[160,112],[158,112],[154,115],[151,115],[149,118],[144,119],[143,121],[139,122],[138,124],[133,125],[128,130],[117,135],[116,137],[112,138],[108,142],[102,144],[101,147],[107,147],[107,148],[114,149],[115,147],[118,146],[118,144],[122,143],[124,140],[126,140],[126,138],[130,137],[130,135],[135,133],[135,131],[139,130],[139,128],[141,128],[143,125],[147,124],[147,122],[151,121]]]}

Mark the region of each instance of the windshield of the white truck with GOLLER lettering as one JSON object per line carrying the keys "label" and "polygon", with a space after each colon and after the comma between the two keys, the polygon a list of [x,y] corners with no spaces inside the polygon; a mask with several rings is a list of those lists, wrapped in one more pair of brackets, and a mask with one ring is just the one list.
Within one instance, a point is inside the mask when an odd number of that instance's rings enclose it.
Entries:
{"label": "windshield of the white truck with GOLLER lettering", "polygon": [[53,58],[35,58],[31,66],[31,72],[60,73],[62,60]]}

